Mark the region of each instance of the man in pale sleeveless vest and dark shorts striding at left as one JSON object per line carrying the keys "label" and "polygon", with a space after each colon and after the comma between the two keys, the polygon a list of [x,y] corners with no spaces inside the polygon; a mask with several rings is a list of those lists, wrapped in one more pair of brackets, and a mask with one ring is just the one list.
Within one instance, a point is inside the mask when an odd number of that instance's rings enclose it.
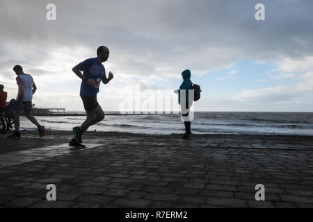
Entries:
{"label": "man in pale sleeveless vest and dark shorts striding at left", "polygon": [[33,77],[30,74],[24,74],[23,68],[20,65],[15,65],[13,71],[17,75],[16,82],[19,88],[14,110],[15,133],[8,136],[8,138],[21,138],[21,134],[19,133],[19,114],[22,110],[26,112],[26,117],[38,127],[39,136],[42,137],[45,135],[45,127],[38,123],[31,112],[33,94],[37,90]]}

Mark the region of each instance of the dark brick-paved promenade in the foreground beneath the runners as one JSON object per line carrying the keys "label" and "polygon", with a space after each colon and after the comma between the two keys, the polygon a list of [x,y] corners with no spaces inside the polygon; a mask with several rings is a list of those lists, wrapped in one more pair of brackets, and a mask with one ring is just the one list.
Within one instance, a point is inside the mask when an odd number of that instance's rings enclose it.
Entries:
{"label": "dark brick-paved promenade in the foreground beneath the runners", "polygon": [[7,135],[0,207],[313,207],[313,137],[88,132],[76,149],[70,132]]}

